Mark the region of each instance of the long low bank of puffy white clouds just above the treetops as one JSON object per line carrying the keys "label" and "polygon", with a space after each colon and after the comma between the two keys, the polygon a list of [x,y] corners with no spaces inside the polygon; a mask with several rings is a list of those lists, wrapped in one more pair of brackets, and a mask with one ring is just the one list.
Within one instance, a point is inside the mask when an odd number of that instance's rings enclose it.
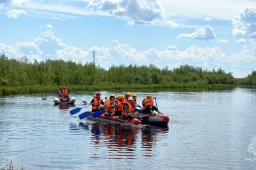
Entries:
{"label": "long low bank of puffy white clouds just above the treetops", "polygon": [[[96,51],[96,64],[108,69],[110,66],[124,64],[149,65],[169,68],[179,67],[179,65],[189,64],[200,66],[203,69],[223,68],[227,72],[234,72],[235,76],[249,74],[256,65],[255,45],[245,45],[243,51],[230,56],[221,52],[218,46],[202,48],[200,46],[189,46],[185,50],[177,50],[176,46],[167,46],[166,50],[148,48],[138,52],[136,48],[128,43],[112,41],[109,46],[93,46],[88,50],[83,50],[74,46],[68,46],[52,31],[42,32],[38,38],[31,42],[19,42],[13,46],[0,43],[0,53],[5,53],[9,57],[19,58],[26,55],[29,60],[45,59],[71,59],[76,62],[92,62],[92,52]],[[239,71],[240,70],[240,71]],[[242,71],[244,70],[244,71]],[[246,72],[246,71],[247,72]]]}

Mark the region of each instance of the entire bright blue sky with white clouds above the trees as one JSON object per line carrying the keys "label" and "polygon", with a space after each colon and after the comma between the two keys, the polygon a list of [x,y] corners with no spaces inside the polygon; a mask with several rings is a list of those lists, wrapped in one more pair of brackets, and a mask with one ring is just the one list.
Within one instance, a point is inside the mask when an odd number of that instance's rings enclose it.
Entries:
{"label": "entire bright blue sky with white clouds above the trees", "polygon": [[9,58],[256,70],[255,0],[0,0],[0,23]]}

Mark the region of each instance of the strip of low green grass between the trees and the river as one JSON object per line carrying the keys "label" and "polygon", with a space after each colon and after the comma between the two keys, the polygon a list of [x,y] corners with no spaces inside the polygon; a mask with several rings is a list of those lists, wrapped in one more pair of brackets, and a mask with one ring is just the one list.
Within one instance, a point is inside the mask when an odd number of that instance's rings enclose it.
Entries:
{"label": "strip of low green grass between the trees and the river", "polygon": [[[193,83],[178,84],[173,83],[170,85],[66,85],[70,92],[76,91],[102,91],[102,90],[175,90],[180,88],[205,88],[205,89],[225,89],[236,87],[235,85],[198,85]],[[57,94],[60,86],[52,85],[35,85],[35,86],[20,86],[20,87],[0,87],[0,96],[10,96],[15,94],[43,94],[54,93]]]}

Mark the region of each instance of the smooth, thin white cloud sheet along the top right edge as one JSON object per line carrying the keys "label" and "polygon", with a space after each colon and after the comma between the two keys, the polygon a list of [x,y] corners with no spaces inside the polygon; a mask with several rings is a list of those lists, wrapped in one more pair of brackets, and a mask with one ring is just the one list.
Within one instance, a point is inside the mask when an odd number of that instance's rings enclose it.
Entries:
{"label": "smooth, thin white cloud sheet along the top right edge", "polygon": [[[252,0],[159,0],[163,13],[168,18],[204,18],[213,20],[232,20],[237,11],[247,6],[255,6]],[[200,5],[198,5],[200,4]]]}

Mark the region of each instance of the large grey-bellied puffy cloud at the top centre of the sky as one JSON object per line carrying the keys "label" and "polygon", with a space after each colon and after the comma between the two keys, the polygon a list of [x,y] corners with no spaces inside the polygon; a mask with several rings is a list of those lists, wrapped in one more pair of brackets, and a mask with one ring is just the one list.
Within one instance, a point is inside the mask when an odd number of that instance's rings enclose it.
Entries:
{"label": "large grey-bellied puffy cloud at the top centre of the sky", "polygon": [[106,11],[109,15],[125,18],[128,24],[148,24],[161,19],[162,9],[157,0],[93,0],[86,6],[94,11]]}

